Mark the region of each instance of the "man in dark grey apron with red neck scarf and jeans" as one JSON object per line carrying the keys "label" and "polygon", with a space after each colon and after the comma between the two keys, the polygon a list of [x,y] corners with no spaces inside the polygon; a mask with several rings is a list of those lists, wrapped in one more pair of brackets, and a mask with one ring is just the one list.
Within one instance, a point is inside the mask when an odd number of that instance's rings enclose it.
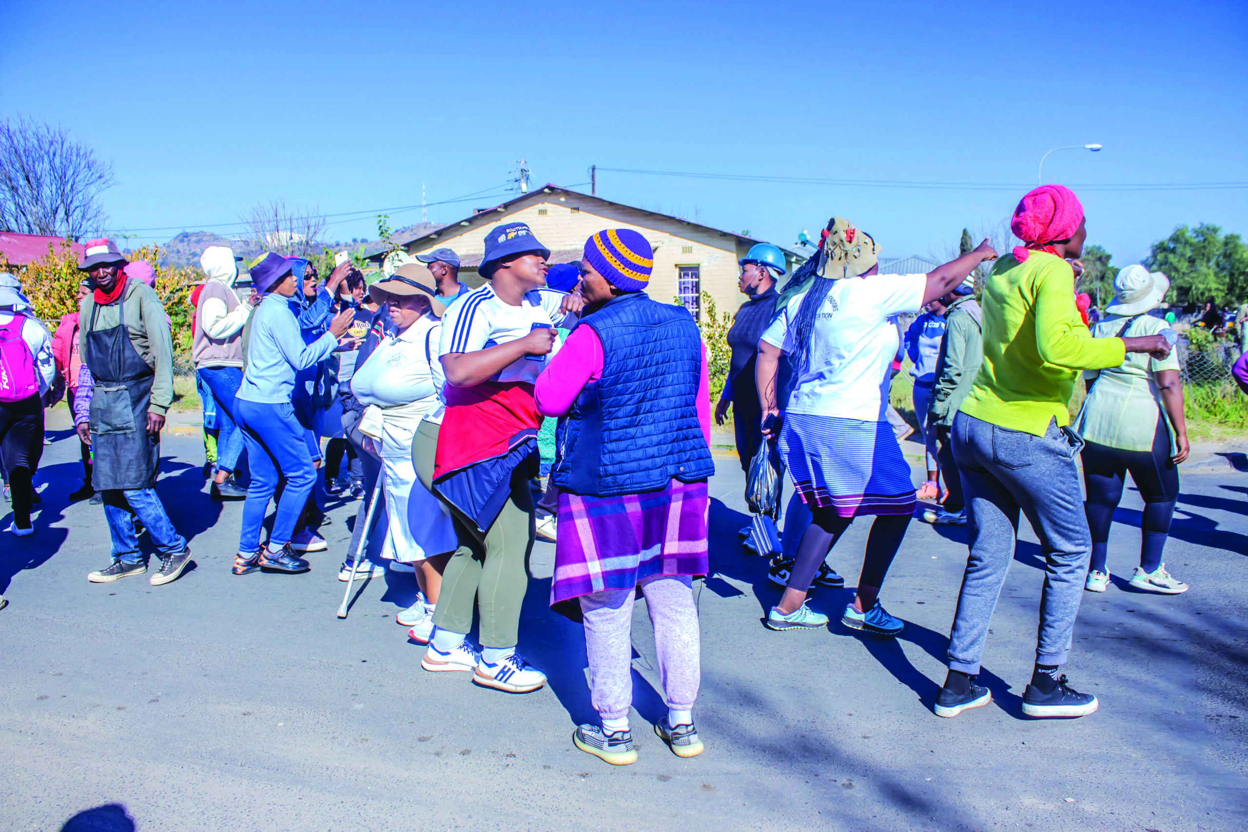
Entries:
{"label": "man in dark grey apron with red neck scarf and jeans", "polygon": [[82,299],[79,346],[91,370],[91,418],[77,425],[95,452],[92,481],[104,495],[112,563],[87,575],[104,584],[147,571],[135,536],[135,515],[161,559],[152,586],[176,580],[191,560],[186,538],[170,523],[160,498],[160,432],[173,398],[173,342],[156,292],[122,274],[125,257],[109,239],[86,244],[79,268],[96,289]]}

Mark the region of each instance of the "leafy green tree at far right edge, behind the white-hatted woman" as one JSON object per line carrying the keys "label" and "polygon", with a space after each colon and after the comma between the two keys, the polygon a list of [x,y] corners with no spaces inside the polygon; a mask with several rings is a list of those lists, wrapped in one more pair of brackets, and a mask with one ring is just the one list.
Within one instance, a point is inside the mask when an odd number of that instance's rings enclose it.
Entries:
{"label": "leafy green tree at far right edge, behind the white-hatted woman", "polygon": [[1219,306],[1233,306],[1248,299],[1248,246],[1239,235],[1223,236],[1214,225],[1179,226],[1153,243],[1144,266],[1166,273],[1178,303],[1212,297]]}

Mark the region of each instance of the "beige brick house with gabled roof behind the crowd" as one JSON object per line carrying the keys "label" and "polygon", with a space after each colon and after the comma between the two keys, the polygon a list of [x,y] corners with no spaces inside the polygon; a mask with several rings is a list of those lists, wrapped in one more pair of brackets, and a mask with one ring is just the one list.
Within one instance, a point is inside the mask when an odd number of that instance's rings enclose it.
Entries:
{"label": "beige brick house with gabled roof behind the crowd", "polygon": [[[654,272],[648,289],[651,298],[664,303],[681,298],[686,307],[698,309],[701,292],[709,292],[720,312],[733,312],[745,299],[736,291],[740,274],[736,261],[745,257],[750,246],[760,242],[731,231],[547,185],[402,241],[406,257],[398,258],[398,262],[392,257],[387,269],[408,262],[416,254],[446,247],[454,249],[463,261],[459,279],[469,286],[480,286],[483,279],[477,267],[485,251],[485,232],[503,222],[528,223],[542,244],[550,249],[552,263],[580,259],[585,239],[597,231],[631,228],[654,247]],[[790,271],[804,259],[796,252],[782,251]]]}

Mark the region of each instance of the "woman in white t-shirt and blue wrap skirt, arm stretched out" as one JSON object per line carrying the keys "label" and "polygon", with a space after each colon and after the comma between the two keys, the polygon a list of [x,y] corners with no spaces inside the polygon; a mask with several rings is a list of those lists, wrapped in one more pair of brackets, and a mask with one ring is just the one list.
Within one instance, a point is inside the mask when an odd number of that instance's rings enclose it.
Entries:
{"label": "woman in white t-shirt and blue wrap skirt, arm stretched out", "polygon": [[[854,518],[874,514],[857,595],[841,622],[880,635],[901,632],[877,596],[915,511],[910,465],[890,427],[895,317],[943,297],[996,252],[985,241],[930,274],[879,274],[880,249],[847,220],[834,217],[815,258],[815,281],[792,298],[759,342],[756,364],[764,435],[776,435],[776,365],[790,357],[794,389],[779,432],[780,453],[814,523],[801,536],[773,630],[821,627],[806,590]],[[799,272],[800,274],[800,272]],[[794,276],[797,279],[799,274]]]}

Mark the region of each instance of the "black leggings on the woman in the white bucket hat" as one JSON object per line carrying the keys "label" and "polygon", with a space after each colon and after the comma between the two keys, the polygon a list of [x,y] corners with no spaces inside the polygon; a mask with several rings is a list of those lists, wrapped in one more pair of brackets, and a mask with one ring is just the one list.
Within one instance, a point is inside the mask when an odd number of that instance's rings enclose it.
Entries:
{"label": "black leggings on the woman in the white bucket hat", "polygon": [[1092,533],[1091,568],[1103,573],[1109,548],[1109,525],[1113,511],[1122,501],[1126,475],[1139,489],[1144,500],[1141,523],[1139,565],[1144,571],[1157,571],[1174,516],[1178,499],[1178,469],[1171,462],[1169,433],[1158,420],[1152,450],[1119,450],[1090,442],[1083,445],[1083,485],[1088,498],[1083,504],[1088,530]]}

